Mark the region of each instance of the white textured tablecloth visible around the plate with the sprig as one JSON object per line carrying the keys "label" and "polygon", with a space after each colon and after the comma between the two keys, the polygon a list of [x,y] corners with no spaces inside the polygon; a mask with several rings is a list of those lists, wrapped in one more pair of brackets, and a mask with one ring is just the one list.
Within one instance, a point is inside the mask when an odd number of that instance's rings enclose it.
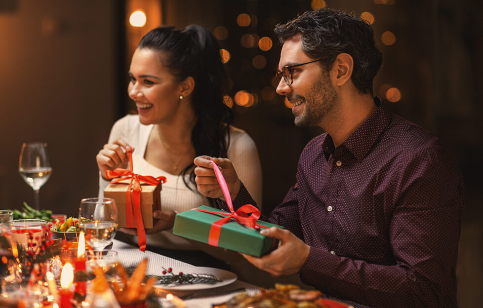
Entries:
{"label": "white textured tablecloth visible around the plate with the sprig", "polygon": [[[187,264],[169,257],[165,257],[163,255],[160,255],[151,251],[142,252],[139,250],[138,247],[134,247],[132,245],[126,244],[119,240],[113,240],[112,250],[115,250],[118,252],[118,259],[124,267],[136,266],[144,258],[148,258],[148,269],[160,269],[161,267],[174,268],[174,267],[191,266],[190,264]],[[209,289],[209,291],[232,290],[240,287],[244,287],[246,289],[246,293],[248,293],[248,295],[250,296],[255,295],[260,291],[259,287],[240,280],[236,280],[235,282],[226,286]],[[190,291],[190,292],[184,291],[184,292],[176,292],[176,293],[173,292],[173,294],[181,296],[191,292],[199,293],[199,291]],[[213,304],[225,303],[229,299],[231,299],[235,294],[237,293],[220,295],[215,297],[195,298],[192,300],[185,301],[185,304],[189,308],[212,308]]]}

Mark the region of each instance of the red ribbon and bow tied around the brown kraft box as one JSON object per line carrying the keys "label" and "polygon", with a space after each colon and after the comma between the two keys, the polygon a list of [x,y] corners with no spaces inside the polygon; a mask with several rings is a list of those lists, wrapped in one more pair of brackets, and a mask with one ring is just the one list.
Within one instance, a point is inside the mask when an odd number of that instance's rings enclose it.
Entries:
{"label": "red ribbon and bow tied around the brown kraft box", "polygon": [[[126,191],[126,225],[133,226],[134,220],[136,221],[139,249],[141,251],[144,251],[146,250],[146,231],[144,230],[143,218],[141,216],[141,182],[157,186],[160,182],[166,183],[166,178],[163,176],[155,178],[152,176],[144,176],[132,172],[132,151],[127,151],[126,154],[129,159],[129,170],[124,168],[106,170],[106,178],[114,179],[117,177],[121,177],[119,179],[112,180],[111,184],[131,179]],[[131,204],[131,190],[132,200],[134,204]]]}

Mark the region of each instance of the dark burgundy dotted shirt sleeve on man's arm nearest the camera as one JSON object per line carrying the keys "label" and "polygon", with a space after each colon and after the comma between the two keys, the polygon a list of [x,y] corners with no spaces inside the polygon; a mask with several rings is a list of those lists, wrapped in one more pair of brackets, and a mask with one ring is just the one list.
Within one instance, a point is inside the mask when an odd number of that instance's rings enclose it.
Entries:
{"label": "dark burgundy dotted shirt sleeve on man's arm nearest the camera", "polygon": [[311,247],[304,283],[371,307],[456,307],[454,283],[463,205],[456,165],[433,149],[400,165],[387,192],[395,264],[370,264]]}

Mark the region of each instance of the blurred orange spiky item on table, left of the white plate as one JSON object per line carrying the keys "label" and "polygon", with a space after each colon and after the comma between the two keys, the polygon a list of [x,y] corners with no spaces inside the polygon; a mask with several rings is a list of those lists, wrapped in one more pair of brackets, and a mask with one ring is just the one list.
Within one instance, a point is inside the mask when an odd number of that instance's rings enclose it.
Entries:
{"label": "blurred orange spiky item on table, left of the white plate", "polygon": [[156,277],[150,277],[146,283],[142,283],[146,277],[147,267],[148,259],[144,258],[136,269],[134,269],[131,277],[128,278],[124,267],[121,264],[118,264],[117,271],[118,275],[121,277],[121,282],[113,280],[112,285],[116,299],[121,306],[133,305],[146,301],[146,298],[151,293],[156,281]]}

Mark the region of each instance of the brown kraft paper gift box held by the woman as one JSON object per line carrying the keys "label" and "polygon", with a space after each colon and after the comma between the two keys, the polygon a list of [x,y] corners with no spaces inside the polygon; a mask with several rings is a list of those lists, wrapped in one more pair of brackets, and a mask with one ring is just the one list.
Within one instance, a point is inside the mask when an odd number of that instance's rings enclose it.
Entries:
{"label": "brown kraft paper gift box held by the woman", "polygon": [[[106,198],[113,198],[116,202],[118,210],[118,227],[119,228],[135,228],[135,223],[132,225],[126,224],[126,191],[129,187],[129,179],[120,181],[118,183],[110,183],[104,190]],[[143,218],[144,228],[153,228],[157,219],[153,217],[155,210],[161,210],[161,183],[157,186],[149,185],[141,182],[141,216]],[[131,204],[134,205],[131,191]],[[134,214],[132,215],[133,217]]]}

